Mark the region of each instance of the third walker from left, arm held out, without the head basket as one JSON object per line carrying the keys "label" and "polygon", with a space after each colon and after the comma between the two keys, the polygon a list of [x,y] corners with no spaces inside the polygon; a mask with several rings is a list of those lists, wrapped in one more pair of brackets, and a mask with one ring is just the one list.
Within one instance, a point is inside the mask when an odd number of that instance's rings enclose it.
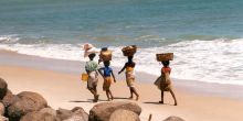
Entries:
{"label": "third walker from left, arm held out, without the head basket", "polygon": [[134,82],[135,82],[134,68],[136,66],[136,63],[133,62],[134,56],[128,56],[127,58],[128,58],[128,62],[124,65],[124,67],[122,68],[122,70],[118,74],[123,73],[126,69],[126,81],[127,81],[127,86],[129,87],[129,90],[130,90],[129,99],[133,99],[134,94],[135,94],[137,96],[136,100],[138,100],[139,95],[134,86]]}

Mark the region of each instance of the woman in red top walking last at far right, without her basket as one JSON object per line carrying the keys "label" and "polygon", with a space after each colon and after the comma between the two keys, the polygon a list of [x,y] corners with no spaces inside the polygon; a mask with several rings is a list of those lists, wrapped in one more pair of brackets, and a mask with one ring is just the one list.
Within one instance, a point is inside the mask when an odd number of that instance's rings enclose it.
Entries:
{"label": "woman in red top walking last at far right, without her basket", "polygon": [[163,91],[169,91],[173,97],[175,106],[177,106],[177,99],[173,94],[171,87],[171,80],[170,80],[170,72],[171,72],[171,68],[169,67],[170,62],[162,61],[161,63],[163,65],[163,67],[161,68],[161,76],[155,82],[155,85],[157,85],[158,88],[161,90],[161,101],[159,101],[159,103],[163,103]]}

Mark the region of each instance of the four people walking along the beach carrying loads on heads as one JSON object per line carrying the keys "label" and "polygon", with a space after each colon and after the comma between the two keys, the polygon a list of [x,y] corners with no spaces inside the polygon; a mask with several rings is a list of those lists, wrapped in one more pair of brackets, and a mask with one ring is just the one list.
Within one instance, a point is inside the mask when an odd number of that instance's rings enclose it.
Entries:
{"label": "four people walking along the beach carrying loads on heads", "polygon": [[[135,47],[135,46],[129,46]],[[128,48],[129,50],[129,48]],[[101,51],[99,54],[99,61],[98,63],[94,61],[96,53],[98,51],[92,45],[92,44],[85,44],[84,45],[84,56],[88,57],[89,61],[85,64],[85,70],[88,75],[87,79],[87,89],[94,95],[94,102],[98,101],[99,95],[97,94],[97,82],[98,82],[98,74],[102,75],[104,79],[103,84],[103,90],[106,91],[107,100],[113,100],[114,96],[110,91],[110,84],[112,80],[116,82],[116,77],[113,72],[113,69],[109,67],[110,61],[112,61],[112,53],[108,53],[108,48],[104,47]],[[105,52],[106,55],[104,55]],[[127,63],[125,63],[124,67],[118,72],[118,74],[122,74],[125,70],[126,74],[126,82],[130,91],[129,99],[134,98],[134,95],[136,96],[136,100],[139,100],[139,94],[137,92],[137,89],[135,88],[135,74],[134,68],[136,66],[136,63],[133,61],[134,54],[136,53],[136,50],[133,48],[131,52],[124,51],[124,55],[127,56]],[[103,55],[102,55],[103,54]],[[105,57],[104,57],[105,56]],[[99,67],[99,63],[104,64],[104,67]],[[155,81],[155,85],[158,86],[158,88],[161,90],[161,100],[160,103],[163,103],[163,91],[169,91],[175,100],[175,106],[177,106],[177,99],[171,88],[171,81],[169,78],[171,68],[169,67],[169,61],[162,61],[161,62],[163,67],[161,68],[161,76]]]}

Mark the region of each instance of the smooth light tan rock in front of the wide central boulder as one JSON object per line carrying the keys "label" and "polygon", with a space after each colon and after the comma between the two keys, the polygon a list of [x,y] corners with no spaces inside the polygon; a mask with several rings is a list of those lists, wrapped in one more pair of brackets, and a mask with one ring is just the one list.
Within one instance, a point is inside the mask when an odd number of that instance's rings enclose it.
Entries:
{"label": "smooth light tan rock in front of the wide central boulder", "polygon": [[112,113],[109,121],[140,121],[140,119],[133,111],[118,109]]}

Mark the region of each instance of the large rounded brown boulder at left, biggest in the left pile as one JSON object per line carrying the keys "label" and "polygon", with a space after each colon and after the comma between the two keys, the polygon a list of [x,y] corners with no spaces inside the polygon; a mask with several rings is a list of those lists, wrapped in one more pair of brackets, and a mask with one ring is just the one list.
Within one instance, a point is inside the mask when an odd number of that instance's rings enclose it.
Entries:
{"label": "large rounded brown boulder at left, biggest in the left pile", "polygon": [[29,112],[39,111],[46,107],[47,102],[41,95],[23,91],[17,95],[17,98],[13,99],[7,111],[10,120],[15,121]]}

